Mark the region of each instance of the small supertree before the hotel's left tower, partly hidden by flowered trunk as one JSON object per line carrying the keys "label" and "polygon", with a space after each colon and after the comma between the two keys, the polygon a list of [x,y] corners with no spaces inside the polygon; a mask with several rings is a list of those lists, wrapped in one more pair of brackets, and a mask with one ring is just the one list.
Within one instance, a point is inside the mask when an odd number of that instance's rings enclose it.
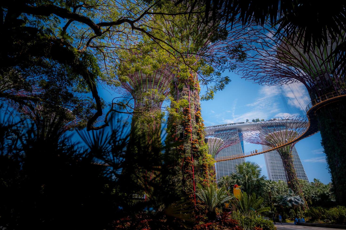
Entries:
{"label": "small supertree before the hotel's left tower, partly hidden by flowered trunk", "polygon": [[[234,130],[223,130],[220,126],[208,126],[205,131],[206,138],[204,140],[208,145],[208,153],[214,160],[222,149],[232,146],[240,141],[238,133],[234,132]],[[217,172],[215,164],[212,166],[212,170],[209,173],[213,177],[216,176]]]}

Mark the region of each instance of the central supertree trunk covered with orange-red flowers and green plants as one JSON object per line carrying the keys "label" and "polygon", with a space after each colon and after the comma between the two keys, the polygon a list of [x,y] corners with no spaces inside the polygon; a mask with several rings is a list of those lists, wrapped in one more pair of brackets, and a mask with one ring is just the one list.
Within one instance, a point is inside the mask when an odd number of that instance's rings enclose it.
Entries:
{"label": "central supertree trunk covered with orange-red flowers and green plants", "polygon": [[[171,165],[177,178],[177,188],[195,201],[196,183],[210,178],[208,153],[204,143],[204,124],[201,117],[199,82],[195,73],[173,79],[172,104],[179,104],[168,120],[168,136],[173,142],[182,143],[171,150]],[[211,158],[212,159],[212,158]]]}

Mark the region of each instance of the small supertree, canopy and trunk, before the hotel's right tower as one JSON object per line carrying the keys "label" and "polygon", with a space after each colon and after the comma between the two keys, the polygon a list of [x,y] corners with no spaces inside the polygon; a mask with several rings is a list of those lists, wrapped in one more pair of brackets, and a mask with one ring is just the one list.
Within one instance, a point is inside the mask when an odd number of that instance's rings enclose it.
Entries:
{"label": "small supertree, canopy and trunk, before the hotel's right tower", "polygon": [[[261,144],[263,148],[275,148],[285,145],[297,139],[307,130],[308,122],[301,117],[286,117],[280,119],[271,119],[266,122],[259,122],[254,127],[245,130],[244,140],[253,144]],[[297,174],[295,173],[292,158],[292,149],[296,142],[278,148],[276,151],[280,154],[282,164],[285,169],[286,179],[289,188],[294,193],[303,197],[299,185]]]}

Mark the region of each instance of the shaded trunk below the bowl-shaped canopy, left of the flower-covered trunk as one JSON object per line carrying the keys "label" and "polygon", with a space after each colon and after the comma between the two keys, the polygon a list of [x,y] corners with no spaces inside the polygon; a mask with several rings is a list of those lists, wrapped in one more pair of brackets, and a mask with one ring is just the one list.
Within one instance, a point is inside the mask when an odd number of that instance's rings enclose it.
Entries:
{"label": "shaded trunk below the bowl-shaped canopy, left of the flower-covered trunk", "polygon": [[160,109],[148,109],[134,115],[122,175],[126,177],[130,192],[148,192],[161,159]]}

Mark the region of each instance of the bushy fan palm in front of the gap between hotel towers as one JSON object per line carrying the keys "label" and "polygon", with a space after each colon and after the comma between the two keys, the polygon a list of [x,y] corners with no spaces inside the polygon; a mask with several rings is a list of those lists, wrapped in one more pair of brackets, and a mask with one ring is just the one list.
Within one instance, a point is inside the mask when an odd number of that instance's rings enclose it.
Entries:
{"label": "bushy fan palm in front of the gap between hotel towers", "polygon": [[231,184],[242,186],[247,194],[255,193],[258,197],[268,198],[270,186],[265,176],[261,176],[261,167],[255,162],[244,162],[236,166],[236,173],[231,174]]}

